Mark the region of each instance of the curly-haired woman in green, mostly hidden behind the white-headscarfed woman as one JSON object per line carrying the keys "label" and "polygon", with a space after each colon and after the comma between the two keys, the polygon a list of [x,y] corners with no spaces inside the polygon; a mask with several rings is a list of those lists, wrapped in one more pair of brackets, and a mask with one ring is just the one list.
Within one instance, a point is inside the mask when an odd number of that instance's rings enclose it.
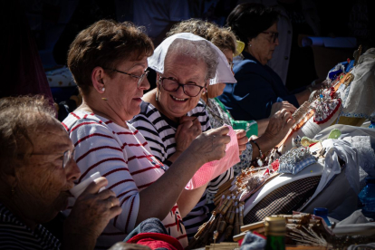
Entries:
{"label": "curly-haired woman in green, mostly hidden behind the white-headscarfed woman", "polygon": [[[207,21],[190,19],[174,25],[173,28],[168,32],[167,36],[179,33],[197,34],[207,39],[207,41],[214,43],[221,50],[221,52],[225,54],[227,63],[229,64],[229,66],[231,66],[231,68],[233,68],[233,57],[234,54],[237,53],[236,36],[228,29],[220,28],[216,24]],[[202,101],[204,105],[207,105],[206,111],[209,122],[213,129],[219,128],[224,124],[231,124],[235,129],[246,130],[246,136],[250,138],[253,135],[258,135],[259,127],[261,135],[265,135],[265,137],[268,137],[269,142],[271,142],[268,144],[264,144],[264,138],[262,136],[256,139],[257,143],[260,143],[260,147],[264,152],[268,151],[269,149],[273,149],[274,146],[277,145],[277,143],[284,139],[284,136],[286,136],[286,132],[290,129],[290,127],[283,127],[283,125],[281,124],[282,120],[277,120],[275,118],[279,115],[279,113],[282,117],[285,112],[292,113],[295,110],[293,109],[292,105],[290,105],[291,107],[289,107],[292,109],[292,111],[285,109],[285,107],[287,106],[285,105],[284,111],[277,112],[277,115],[273,115],[271,119],[267,119],[266,121],[258,121],[257,123],[255,120],[233,120],[230,113],[226,111],[226,107],[224,106],[224,104],[217,99],[217,97],[223,93],[225,87],[226,83],[223,82],[209,84],[207,87],[207,92],[201,95],[200,101]],[[270,120],[270,124],[268,123],[268,120]],[[242,124],[244,125],[243,127],[238,126],[241,126]],[[247,128],[248,124],[253,125],[250,125],[249,128]],[[264,131],[266,131],[265,134]],[[258,156],[256,154],[253,155],[254,142],[248,143],[249,145],[240,156],[241,161],[233,166],[235,176],[240,173],[242,169],[249,167],[251,161]],[[214,197],[214,195],[215,194],[211,192],[207,193],[207,200],[209,203],[212,202],[212,198]]]}

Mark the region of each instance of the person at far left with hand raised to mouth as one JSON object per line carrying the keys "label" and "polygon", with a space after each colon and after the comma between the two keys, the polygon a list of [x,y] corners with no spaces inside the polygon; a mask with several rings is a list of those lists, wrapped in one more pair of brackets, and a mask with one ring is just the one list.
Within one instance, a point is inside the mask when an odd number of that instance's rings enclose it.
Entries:
{"label": "person at far left with hand raised to mouth", "polygon": [[0,100],[0,249],[93,249],[121,212],[106,178],[92,182],[72,207],[60,242],[45,227],[68,206],[81,172],[74,145],[42,97]]}

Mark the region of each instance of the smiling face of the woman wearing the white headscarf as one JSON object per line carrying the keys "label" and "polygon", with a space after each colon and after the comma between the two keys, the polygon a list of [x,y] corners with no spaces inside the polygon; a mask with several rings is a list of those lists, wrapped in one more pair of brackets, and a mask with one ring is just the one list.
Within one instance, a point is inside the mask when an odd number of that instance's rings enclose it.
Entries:
{"label": "smiling face of the woman wearing the white headscarf", "polygon": [[[167,55],[164,63],[164,73],[162,77],[173,78],[181,84],[197,84],[204,87],[206,85],[207,65],[204,61],[183,54]],[[159,108],[169,119],[178,121],[185,116],[188,111],[197,106],[202,91],[196,97],[190,97],[184,93],[182,87],[178,91],[166,91],[159,84]]]}

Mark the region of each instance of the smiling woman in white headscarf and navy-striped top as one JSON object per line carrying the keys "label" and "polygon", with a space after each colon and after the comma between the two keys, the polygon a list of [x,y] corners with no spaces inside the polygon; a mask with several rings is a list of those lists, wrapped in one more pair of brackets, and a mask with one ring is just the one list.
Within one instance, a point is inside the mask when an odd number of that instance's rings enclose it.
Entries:
{"label": "smiling woman in white headscarf and navy-striped top", "polygon": [[[236,80],[226,56],[195,34],[168,37],[149,57],[149,67],[157,72],[157,89],[144,96],[139,115],[130,123],[148,140],[153,155],[165,166],[171,166],[193,139],[211,129],[205,107],[198,103],[208,84]],[[247,142],[245,130],[236,134],[238,150],[242,151]],[[200,199],[184,218],[187,236],[197,233],[197,227],[209,216],[207,212],[214,208],[206,206],[207,190],[216,192],[233,177],[233,169],[229,168],[205,186],[188,191],[190,197]]]}

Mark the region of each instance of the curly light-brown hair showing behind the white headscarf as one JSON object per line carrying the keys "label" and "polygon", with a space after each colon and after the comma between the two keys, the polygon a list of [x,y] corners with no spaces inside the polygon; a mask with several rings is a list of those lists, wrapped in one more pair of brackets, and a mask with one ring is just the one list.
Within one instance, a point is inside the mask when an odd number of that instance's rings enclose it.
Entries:
{"label": "curly light-brown hair showing behind the white headscarf", "polygon": [[167,33],[167,37],[179,33],[192,33],[214,43],[220,50],[230,50],[236,53],[236,36],[226,28],[220,28],[216,24],[199,20],[189,19],[175,24]]}

